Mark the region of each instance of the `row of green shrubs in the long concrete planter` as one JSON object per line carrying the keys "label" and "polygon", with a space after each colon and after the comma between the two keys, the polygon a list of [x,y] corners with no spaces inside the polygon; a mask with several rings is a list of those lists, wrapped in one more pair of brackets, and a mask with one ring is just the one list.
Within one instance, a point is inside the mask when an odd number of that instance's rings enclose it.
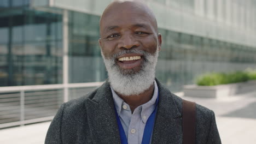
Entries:
{"label": "row of green shrubs in the long concrete planter", "polygon": [[210,73],[197,78],[196,84],[199,86],[216,86],[228,83],[246,82],[256,80],[256,71],[236,71],[234,73]]}

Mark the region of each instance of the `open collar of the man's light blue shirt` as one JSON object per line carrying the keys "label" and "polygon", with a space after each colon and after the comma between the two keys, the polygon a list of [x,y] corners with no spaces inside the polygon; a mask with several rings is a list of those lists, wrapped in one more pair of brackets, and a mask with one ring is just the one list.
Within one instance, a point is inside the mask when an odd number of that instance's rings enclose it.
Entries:
{"label": "open collar of the man's light blue shirt", "polygon": [[[126,104],[124,102],[123,99],[121,99],[117,93],[115,93],[114,89],[112,87],[111,91],[112,91],[112,95],[113,95],[113,100],[114,100],[114,105],[115,105],[115,109],[117,109],[117,113],[120,116],[121,110],[122,110],[122,106],[126,105],[127,109],[126,110],[130,110],[130,106],[128,104]],[[151,113],[154,111],[155,109],[155,102],[156,99],[158,98],[158,85],[156,84],[156,81],[154,81],[154,93],[153,93],[153,97],[145,104],[138,106],[136,109],[141,110],[140,114],[141,114],[141,119],[144,123],[147,122],[149,116],[151,115]],[[137,111],[135,109],[135,111]]]}

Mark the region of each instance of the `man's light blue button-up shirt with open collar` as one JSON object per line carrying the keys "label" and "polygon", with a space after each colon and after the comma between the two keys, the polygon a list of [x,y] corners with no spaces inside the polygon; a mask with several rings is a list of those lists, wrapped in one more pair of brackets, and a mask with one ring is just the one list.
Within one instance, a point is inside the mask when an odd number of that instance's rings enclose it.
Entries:
{"label": "man's light blue button-up shirt with open collar", "polygon": [[156,85],[156,81],[154,81],[154,93],[152,99],[147,103],[136,107],[133,113],[131,112],[130,106],[126,104],[112,88],[111,91],[115,109],[117,109],[128,143],[140,144],[142,142],[145,125],[149,116],[155,109],[155,102],[158,98],[158,86]]}

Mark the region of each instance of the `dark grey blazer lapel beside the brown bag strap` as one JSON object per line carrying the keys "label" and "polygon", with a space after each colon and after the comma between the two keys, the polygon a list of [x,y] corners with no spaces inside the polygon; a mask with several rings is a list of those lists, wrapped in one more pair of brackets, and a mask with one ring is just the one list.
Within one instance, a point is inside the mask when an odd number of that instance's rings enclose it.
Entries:
{"label": "dark grey blazer lapel beside the brown bag strap", "polygon": [[182,118],[172,93],[156,79],[159,105],[152,143],[182,143]]}

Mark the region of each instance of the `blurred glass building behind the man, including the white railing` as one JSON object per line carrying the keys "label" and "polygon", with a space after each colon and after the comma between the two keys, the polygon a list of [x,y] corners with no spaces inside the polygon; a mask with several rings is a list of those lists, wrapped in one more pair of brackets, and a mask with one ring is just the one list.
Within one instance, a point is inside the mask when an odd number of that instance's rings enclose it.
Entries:
{"label": "blurred glass building behind the man, including the white railing", "polygon": [[[112,0],[0,0],[0,128],[53,118],[106,80],[99,20]],[[147,0],[172,92],[212,71],[255,68],[256,0]]]}

